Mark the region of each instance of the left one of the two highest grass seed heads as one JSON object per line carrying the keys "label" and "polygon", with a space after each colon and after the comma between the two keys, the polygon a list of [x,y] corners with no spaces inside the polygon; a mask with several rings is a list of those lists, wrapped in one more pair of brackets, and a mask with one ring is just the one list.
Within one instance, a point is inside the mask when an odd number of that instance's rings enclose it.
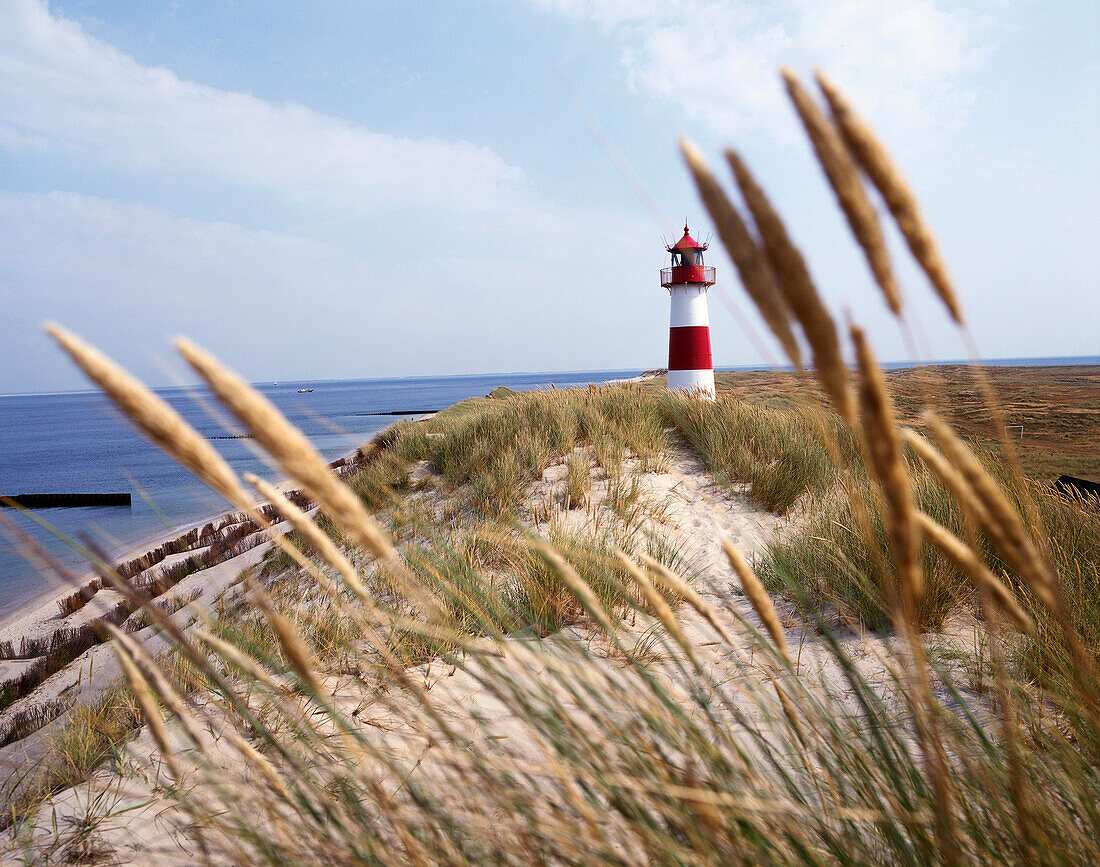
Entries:
{"label": "left one of the two highest grass seed heads", "polygon": [[882,289],[882,295],[894,316],[900,316],[901,289],[890,266],[890,253],[882,237],[879,216],[867,197],[859,169],[836,129],[799,83],[794,73],[783,69],[783,80],[787,83],[787,92],[802,119],[806,135],[814,146],[814,153],[817,154],[817,162],[821,163],[829,186],[836,194],[836,200],[844,216],[848,218],[853,235],[867,256],[875,282]]}

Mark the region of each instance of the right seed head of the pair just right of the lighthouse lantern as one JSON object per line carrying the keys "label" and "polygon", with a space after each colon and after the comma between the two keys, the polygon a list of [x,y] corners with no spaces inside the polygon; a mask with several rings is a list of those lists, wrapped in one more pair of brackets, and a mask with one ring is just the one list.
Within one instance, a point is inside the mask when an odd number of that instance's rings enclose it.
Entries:
{"label": "right seed head of the pair just right of the lighthouse lantern", "polygon": [[850,422],[855,419],[855,407],[848,388],[848,371],[840,356],[840,341],[833,317],[817,294],[802,253],[791,240],[783,220],[772,207],[767,194],[735,152],[726,151],[726,158],[729,161],[741,196],[745,197],[745,204],[752,212],[752,219],[756,221],[757,231],[760,233],[760,240],[763,242],[765,252],[783,298],[802,326],[802,333],[813,350],[814,372],[837,410]]}

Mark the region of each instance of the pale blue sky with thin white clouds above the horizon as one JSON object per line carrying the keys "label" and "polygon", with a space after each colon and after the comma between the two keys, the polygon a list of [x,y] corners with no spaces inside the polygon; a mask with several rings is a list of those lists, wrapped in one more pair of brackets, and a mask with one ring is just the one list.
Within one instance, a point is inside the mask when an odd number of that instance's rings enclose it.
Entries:
{"label": "pale blue sky with thin white clouds above the horizon", "polygon": [[[0,0],[0,393],[82,387],[47,320],[153,385],[179,334],[253,381],[663,366],[664,241],[713,231],[681,135],[909,359],[783,65],[884,140],[983,356],[1100,353],[1092,0]],[[888,240],[919,358],[964,356]],[[715,364],[774,361],[708,255]]]}

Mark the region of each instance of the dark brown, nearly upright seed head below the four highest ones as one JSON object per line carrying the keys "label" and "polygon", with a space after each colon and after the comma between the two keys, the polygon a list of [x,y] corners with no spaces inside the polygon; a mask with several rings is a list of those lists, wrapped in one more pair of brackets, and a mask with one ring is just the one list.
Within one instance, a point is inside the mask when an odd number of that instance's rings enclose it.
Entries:
{"label": "dark brown, nearly upright seed head below the four highest ones", "polygon": [[898,577],[901,582],[904,611],[911,621],[916,617],[916,606],[923,595],[923,577],[917,551],[920,533],[914,519],[915,507],[909,473],[901,453],[901,439],[894,420],[893,405],[887,392],[886,380],[862,329],[851,327],[859,363],[859,409],[864,439],[870,457],[871,470],[882,489],[887,505],[887,529],[893,549]]}

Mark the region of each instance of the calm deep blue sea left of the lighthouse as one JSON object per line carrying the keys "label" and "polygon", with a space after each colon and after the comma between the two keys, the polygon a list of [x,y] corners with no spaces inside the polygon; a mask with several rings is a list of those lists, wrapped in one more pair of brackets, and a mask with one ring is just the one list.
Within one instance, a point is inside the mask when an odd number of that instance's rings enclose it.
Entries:
{"label": "calm deep blue sea left of the lighthouse", "polygon": [[[392,424],[395,409],[441,409],[498,385],[516,389],[584,385],[632,376],[637,371],[600,371],[497,376],[444,376],[409,380],[359,380],[264,385],[261,391],[312,440],[327,459],[338,458]],[[160,392],[206,436],[238,432],[223,416],[208,411],[204,393],[185,388]],[[253,452],[251,440],[213,440],[238,471],[278,476]],[[193,524],[228,506],[190,473],[164,457],[96,393],[0,397],[0,493],[132,492],[129,508],[50,508],[38,515],[72,537],[90,536],[112,553],[172,527]],[[161,514],[158,514],[161,513]],[[68,546],[12,509],[8,517],[42,541],[63,563],[81,567]],[[80,571],[84,571],[82,568]],[[0,617],[54,585],[0,536]]]}

